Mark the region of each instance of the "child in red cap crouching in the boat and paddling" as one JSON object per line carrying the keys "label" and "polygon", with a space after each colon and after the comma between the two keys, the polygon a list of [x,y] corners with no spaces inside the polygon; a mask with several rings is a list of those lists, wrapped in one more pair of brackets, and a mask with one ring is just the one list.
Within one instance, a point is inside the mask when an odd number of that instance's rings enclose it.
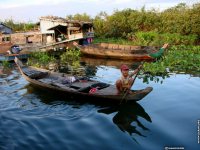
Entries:
{"label": "child in red cap crouching in the boat and paddling", "polygon": [[116,81],[117,94],[125,93],[127,90],[129,93],[131,93],[130,89],[134,82],[132,76],[136,75],[141,67],[142,65],[140,65],[134,72],[129,74],[129,67],[127,65],[121,66],[122,76]]}

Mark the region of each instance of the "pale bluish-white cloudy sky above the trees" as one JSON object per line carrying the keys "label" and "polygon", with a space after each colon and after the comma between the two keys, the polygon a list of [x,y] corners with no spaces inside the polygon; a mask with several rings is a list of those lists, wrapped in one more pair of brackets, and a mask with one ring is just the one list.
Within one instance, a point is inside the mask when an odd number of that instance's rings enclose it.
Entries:
{"label": "pale bluish-white cloudy sky above the trees", "polygon": [[0,0],[0,21],[13,19],[15,22],[39,22],[41,16],[58,16],[77,13],[95,17],[101,11],[111,15],[115,10],[126,8],[156,9],[174,7],[179,3],[191,6],[200,0]]}

